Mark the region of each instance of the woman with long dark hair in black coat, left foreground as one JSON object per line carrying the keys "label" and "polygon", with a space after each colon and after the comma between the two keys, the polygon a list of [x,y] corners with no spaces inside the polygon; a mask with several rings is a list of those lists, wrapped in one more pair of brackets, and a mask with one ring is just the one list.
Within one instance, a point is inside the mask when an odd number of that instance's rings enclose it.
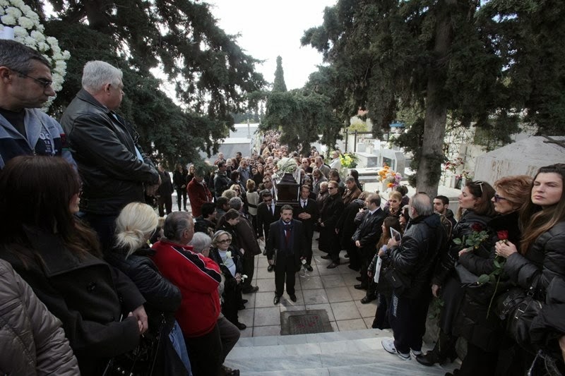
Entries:
{"label": "woman with long dark hair in black coat, left foreground", "polygon": [[101,260],[97,236],[74,214],[81,182],[62,158],[22,156],[0,174],[0,257],[63,322],[82,375],[136,348],[147,328],[145,299]]}

